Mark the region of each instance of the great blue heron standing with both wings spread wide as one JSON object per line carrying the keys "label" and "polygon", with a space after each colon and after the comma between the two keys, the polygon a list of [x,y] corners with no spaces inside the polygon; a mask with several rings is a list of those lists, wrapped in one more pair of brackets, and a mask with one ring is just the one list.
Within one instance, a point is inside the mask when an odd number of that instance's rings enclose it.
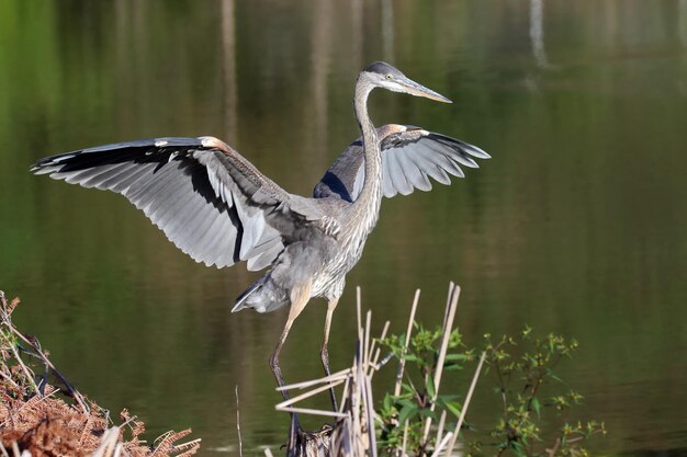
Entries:
{"label": "great blue heron standing with both wings spread wide", "polygon": [[[382,196],[429,191],[428,176],[449,184],[449,174],[463,176],[459,164],[477,167],[470,156],[489,157],[480,148],[419,127],[391,124],[376,129],[367,107],[374,88],[451,103],[388,64],[368,66],[358,77],[354,96],[362,138],[338,157],[313,197],[285,192],[214,137],[99,146],[48,157],[31,170],[124,195],[196,262],[223,267],[247,261],[251,271],[269,266],[232,311],[269,312],[290,305],[270,358],[283,386],[279,353],[312,297],[328,300],[320,357],[329,374],[331,315],[346,274],[360,260],[376,224]],[[331,400],[336,408],[334,392]]]}

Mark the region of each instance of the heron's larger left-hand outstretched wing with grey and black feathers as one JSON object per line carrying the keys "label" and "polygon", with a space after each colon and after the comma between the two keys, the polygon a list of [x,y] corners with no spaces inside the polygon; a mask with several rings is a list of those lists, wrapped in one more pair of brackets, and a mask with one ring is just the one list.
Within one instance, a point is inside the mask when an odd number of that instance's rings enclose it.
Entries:
{"label": "heron's larger left-hand outstretched wing with grey and black feathers", "polygon": [[142,209],[179,249],[217,267],[269,265],[299,224],[320,217],[213,137],[119,142],[48,157],[36,174],[113,191]]}

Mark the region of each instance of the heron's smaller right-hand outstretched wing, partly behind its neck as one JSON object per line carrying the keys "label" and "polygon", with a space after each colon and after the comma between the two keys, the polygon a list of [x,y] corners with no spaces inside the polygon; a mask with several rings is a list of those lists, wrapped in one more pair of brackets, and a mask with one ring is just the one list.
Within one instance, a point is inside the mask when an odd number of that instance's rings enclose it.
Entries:
{"label": "heron's smaller right-hand outstretched wing, partly behind its neck", "polygon": [[[460,165],[477,168],[473,158],[488,159],[476,146],[424,130],[388,124],[378,128],[382,149],[382,192],[385,197],[431,190],[429,178],[450,184],[449,175],[463,178]],[[327,170],[313,192],[315,198],[339,197],[354,202],[364,183],[362,139],[353,141]]]}

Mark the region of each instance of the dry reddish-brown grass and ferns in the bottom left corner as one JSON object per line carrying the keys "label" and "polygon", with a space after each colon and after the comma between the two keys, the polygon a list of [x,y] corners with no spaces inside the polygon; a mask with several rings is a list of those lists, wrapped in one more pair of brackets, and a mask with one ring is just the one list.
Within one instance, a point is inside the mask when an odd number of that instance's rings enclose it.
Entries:
{"label": "dry reddish-brown grass and ferns in the bottom left corner", "polygon": [[[191,430],[168,432],[149,446],[142,439],[144,423],[126,410],[121,425],[113,425],[105,410],[89,402],[57,370],[38,341],[14,327],[11,316],[19,299],[8,302],[0,292],[0,456],[188,457],[196,453],[200,439],[182,442]],[[45,375],[36,377],[33,366]],[[55,386],[47,382],[48,376]]]}

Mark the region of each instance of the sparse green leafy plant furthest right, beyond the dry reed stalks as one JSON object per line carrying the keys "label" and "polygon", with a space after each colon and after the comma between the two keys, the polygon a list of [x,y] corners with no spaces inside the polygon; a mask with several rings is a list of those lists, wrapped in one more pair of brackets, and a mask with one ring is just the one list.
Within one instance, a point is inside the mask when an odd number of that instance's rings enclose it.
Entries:
{"label": "sparse green leafy plant furthest right, beyond the dry reed stalks", "polygon": [[[604,424],[567,422],[571,410],[582,403],[583,396],[567,388],[553,372],[577,350],[577,341],[566,341],[553,333],[534,338],[529,327],[517,336],[502,336],[496,343],[488,334],[485,340],[487,363],[496,378],[495,392],[502,402],[500,418],[491,432],[497,439],[497,455],[509,450],[516,456],[588,455],[581,442],[594,434],[605,434]],[[520,354],[516,355],[518,349]],[[542,396],[541,387],[552,382],[562,386],[563,391]],[[544,415],[550,418],[547,431],[542,430]],[[473,449],[480,447],[480,443],[473,444]]]}

